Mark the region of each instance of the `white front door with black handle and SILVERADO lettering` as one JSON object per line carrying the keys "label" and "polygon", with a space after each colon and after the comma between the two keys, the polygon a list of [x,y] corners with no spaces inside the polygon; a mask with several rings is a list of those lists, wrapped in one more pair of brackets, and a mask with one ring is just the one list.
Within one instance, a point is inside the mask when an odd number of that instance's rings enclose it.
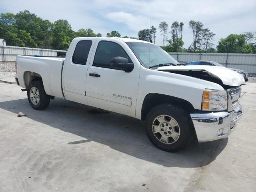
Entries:
{"label": "white front door with black handle and SILVERADO lettering", "polygon": [[[110,60],[117,56],[127,58],[129,63],[134,64],[132,72],[111,67]],[[98,39],[87,71],[88,104],[135,116],[139,75],[140,63],[125,42],[116,38]]]}

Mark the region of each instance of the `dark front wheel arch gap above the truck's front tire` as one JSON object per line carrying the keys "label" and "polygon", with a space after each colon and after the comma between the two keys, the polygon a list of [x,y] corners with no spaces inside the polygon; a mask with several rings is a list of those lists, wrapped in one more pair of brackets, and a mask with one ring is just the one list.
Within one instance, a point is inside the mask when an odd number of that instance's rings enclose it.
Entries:
{"label": "dark front wheel arch gap above the truck's front tire", "polygon": [[152,108],[154,108],[157,105],[165,103],[176,104],[177,106],[180,106],[181,108],[186,110],[188,114],[195,111],[193,105],[187,100],[165,94],[149,93],[145,96],[144,101],[142,103],[141,120],[146,120],[146,116]]}

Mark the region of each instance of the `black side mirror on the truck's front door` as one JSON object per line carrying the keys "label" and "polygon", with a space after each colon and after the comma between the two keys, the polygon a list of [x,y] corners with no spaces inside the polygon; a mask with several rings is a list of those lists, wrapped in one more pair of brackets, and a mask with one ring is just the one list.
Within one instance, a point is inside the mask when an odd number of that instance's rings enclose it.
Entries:
{"label": "black side mirror on the truck's front door", "polygon": [[128,59],[124,57],[113,57],[110,60],[110,65],[114,69],[123,70],[127,73],[131,72],[134,68],[134,64],[128,63]]}

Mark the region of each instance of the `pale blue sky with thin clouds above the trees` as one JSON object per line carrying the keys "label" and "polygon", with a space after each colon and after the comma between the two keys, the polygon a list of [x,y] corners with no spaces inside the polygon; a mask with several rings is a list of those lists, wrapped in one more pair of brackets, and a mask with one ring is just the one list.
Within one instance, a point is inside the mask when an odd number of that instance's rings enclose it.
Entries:
{"label": "pale blue sky with thin clouds above the trees", "polygon": [[[139,30],[149,28],[149,20],[155,27],[165,20],[169,28],[173,21],[184,22],[185,48],[192,42],[190,20],[200,20],[216,34],[215,46],[229,34],[256,32],[256,0],[1,0],[0,12],[25,9],[52,22],[66,19],[75,31],[92,28],[102,36],[117,30],[137,37]],[[162,45],[159,29],[156,36],[156,44]]]}

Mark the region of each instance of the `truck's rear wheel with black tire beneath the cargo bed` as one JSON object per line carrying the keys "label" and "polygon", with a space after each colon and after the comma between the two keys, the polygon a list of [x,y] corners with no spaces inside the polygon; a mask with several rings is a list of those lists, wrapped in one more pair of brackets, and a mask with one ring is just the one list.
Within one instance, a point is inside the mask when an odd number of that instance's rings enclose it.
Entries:
{"label": "truck's rear wheel with black tire beneath the cargo bed", "polygon": [[27,94],[29,104],[36,110],[43,110],[50,104],[50,96],[46,94],[42,81],[32,81]]}

